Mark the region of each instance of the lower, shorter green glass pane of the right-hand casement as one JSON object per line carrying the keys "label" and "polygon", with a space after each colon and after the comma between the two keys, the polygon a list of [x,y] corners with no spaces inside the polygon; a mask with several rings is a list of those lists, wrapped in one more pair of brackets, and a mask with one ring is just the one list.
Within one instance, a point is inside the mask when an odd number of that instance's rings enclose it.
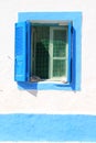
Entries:
{"label": "lower, shorter green glass pane of the right-hand casement", "polygon": [[62,77],[66,75],[66,61],[54,59],[53,61],[53,77]]}

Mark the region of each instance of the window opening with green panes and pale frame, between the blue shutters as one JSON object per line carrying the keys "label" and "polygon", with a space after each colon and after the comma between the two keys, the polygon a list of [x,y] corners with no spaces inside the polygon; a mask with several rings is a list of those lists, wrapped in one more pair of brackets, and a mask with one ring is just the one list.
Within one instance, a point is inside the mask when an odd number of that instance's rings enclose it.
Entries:
{"label": "window opening with green panes and pale frame, between the blue shutters", "polygon": [[31,29],[31,77],[67,80],[68,28],[32,26]]}

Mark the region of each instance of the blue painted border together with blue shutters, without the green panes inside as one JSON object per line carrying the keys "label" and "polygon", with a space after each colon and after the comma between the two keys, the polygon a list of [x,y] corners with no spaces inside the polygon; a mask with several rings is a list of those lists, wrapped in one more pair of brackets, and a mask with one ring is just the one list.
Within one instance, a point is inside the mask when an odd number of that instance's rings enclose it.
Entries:
{"label": "blue painted border together with blue shutters, without the green panes inside", "polygon": [[[33,22],[33,23],[32,23]],[[33,25],[64,28],[67,25],[66,81],[31,82]],[[81,12],[20,12],[15,23],[14,80],[20,88],[39,90],[81,89]],[[60,57],[55,57],[55,63]],[[62,58],[60,58],[62,59]],[[60,62],[60,61],[58,61]],[[53,63],[53,62],[52,62]]]}

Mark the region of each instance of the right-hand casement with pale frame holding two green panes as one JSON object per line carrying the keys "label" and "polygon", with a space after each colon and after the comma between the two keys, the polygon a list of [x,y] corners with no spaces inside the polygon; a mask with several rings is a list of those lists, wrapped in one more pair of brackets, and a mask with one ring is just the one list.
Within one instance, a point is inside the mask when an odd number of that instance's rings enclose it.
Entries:
{"label": "right-hand casement with pale frame holding two green panes", "polygon": [[[56,31],[56,36],[57,36],[58,31],[61,31],[62,33],[65,32],[66,33],[65,40],[63,37],[64,36],[64,33],[63,33],[63,36],[61,37],[62,41],[61,40],[58,41],[57,38],[56,38],[57,41],[55,41],[54,40],[54,31]],[[67,50],[68,48],[68,46],[67,46],[67,34],[68,34],[67,33],[67,26],[51,26],[50,28],[50,55],[51,55],[50,77],[53,80],[63,80],[64,79],[65,81],[67,81],[66,80],[66,77],[67,77],[66,70],[67,70],[67,64],[68,63],[65,62],[65,65],[64,65],[64,61],[66,61],[66,58],[67,58],[67,51],[68,51]],[[64,45],[64,41],[65,41],[65,45]],[[62,50],[60,50],[58,46],[61,46]],[[56,50],[55,50],[55,47],[56,47]],[[64,53],[64,48],[66,48],[65,53]],[[56,61],[56,63],[54,64],[55,61]],[[61,65],[62,63],[63,63],[63,65]],[[58,69],[58,75],[62,74],[62,76],[57,76],[57,73],[55,73],[55,69],[53,69],[53,68],[55,68],[54,65],[57,66],[56,64],[58,65],[58,68],[56,68],[56,70]],[[60,68],[62,68],[62,69],[60,69]],[[63,73],[61,73],[62,70],[63,70]],[[54,75],[56,75],[56,76],[54,76]]]}

